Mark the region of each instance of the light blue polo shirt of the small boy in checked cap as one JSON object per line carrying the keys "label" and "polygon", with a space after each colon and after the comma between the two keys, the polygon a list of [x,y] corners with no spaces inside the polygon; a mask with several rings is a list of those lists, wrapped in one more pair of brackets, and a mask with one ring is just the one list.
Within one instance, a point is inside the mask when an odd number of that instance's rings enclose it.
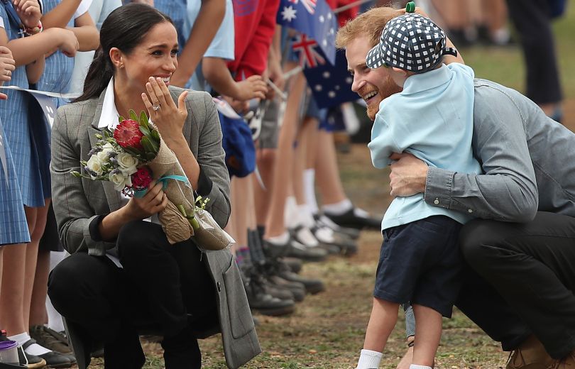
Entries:
{"label": "light blue polo shirt of the small boy in checked cap", "polygon": [[[381,101],[368,144],[373,166],[383,168],[391,163],[392,153],[405,151],[432,167],[481,173],[471,148],[473,77],[473,70],[466,65],[442,65],[408,77],[403,92]],[[431,206],[423,194],[416,194],[393,199],[381,229],[433,215],[449,216],[462,224],[471,220],[458,211]]]}

